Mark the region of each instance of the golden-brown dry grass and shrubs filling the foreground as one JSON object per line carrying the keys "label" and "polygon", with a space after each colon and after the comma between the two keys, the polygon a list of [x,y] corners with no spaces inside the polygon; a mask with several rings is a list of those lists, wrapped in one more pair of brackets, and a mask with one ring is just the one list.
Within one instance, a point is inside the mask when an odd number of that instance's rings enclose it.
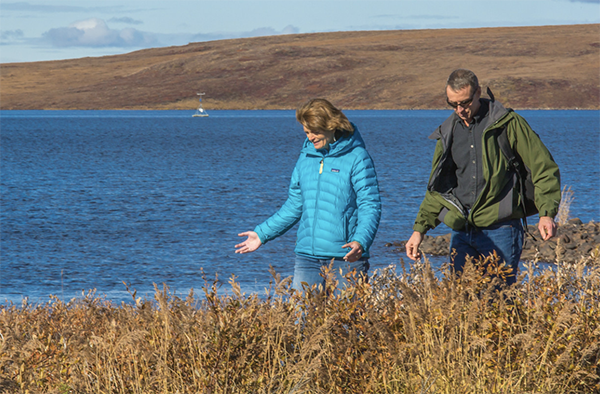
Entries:
{"label": "golden-brown dry grass and shrubs filling the foreground", "polygon": [[[489,267],[482,268],[482,263]],[[6,393],[598,393],[600,269],[502,288],[493,261],[460,277],[429,263],[293,293],[113,305],[93,292],[0,309]],[[597,265],[596,265],[597,266]]]}

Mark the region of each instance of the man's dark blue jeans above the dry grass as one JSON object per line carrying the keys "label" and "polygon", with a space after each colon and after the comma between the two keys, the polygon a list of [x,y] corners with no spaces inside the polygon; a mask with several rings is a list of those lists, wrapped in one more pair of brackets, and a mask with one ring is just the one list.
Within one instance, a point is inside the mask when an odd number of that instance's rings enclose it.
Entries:
{"label": "man's dark blue jeans above the dry grass", "polygon": [[506,265],[513,269],[513,274],[506,278],[506,283],[515,283],[523,251],[521,220],[508,220],[490,227],[470,228],[467,231],[452,230],[450,256],[454,256],[452,263],[456,272],[462,272],[467,255],[479,259],[489,256],[494,251],[500,257],[500,262],[505,261]]}

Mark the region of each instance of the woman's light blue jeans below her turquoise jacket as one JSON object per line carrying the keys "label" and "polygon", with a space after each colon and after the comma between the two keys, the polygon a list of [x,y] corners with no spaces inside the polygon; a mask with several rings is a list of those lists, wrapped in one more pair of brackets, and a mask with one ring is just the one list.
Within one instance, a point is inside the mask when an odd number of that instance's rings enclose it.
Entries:
{"label": "woman's light blue jeans below her turquoise jacket", "polygon": [[[297,254],[292,287],[301,291],[302,282],[306,282],[309,287],[314,284],[320,284],[324,287],[325,278],[321,276],[321,269],[329,267],[329,264],[331,264],[331,259],[319,259]],[[340,273],[340,268],[342,269],[342,273]],[[352,272],[352,270],[356,270],[357,274],[363,273],[366,276],[367,271],[369,271],[369,260],[361,258],[353,263],[349,263],[341,258],[336,258],[333,261],[332,273],[335,274],[335,280],[338,281],[338,288],[348,285],[348,281],[344,276]]]}

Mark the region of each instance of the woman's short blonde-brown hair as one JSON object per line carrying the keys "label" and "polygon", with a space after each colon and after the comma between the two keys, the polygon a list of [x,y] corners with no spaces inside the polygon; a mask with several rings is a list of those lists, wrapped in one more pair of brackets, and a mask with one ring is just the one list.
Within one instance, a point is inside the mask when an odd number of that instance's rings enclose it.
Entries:
{"label": "woman's short blonde-brown hair", "polygon": [[311,131],[354,133],[346,115],[325,99],[312,99],[296,110],[296,119]]}

